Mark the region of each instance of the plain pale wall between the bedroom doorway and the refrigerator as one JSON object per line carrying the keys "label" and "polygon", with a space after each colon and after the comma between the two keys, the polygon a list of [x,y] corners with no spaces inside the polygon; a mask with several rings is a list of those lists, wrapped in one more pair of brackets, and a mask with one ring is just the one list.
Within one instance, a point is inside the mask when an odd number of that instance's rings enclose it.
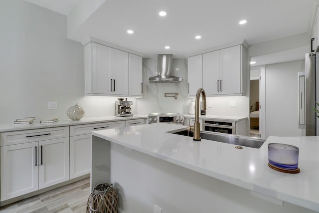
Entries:
{"label": "plain pale wall between the bedroom doorway and the refrigerator", "polygon": [[305,61],[266,65],[266,138],[301,136],[298,129],[298,72]]}

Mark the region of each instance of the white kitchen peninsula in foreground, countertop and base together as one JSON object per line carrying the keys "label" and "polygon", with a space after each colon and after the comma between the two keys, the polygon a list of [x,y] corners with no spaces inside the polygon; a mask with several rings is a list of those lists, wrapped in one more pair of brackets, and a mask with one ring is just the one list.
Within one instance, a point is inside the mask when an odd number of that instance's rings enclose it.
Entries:
{"label": "white kitchen peninsula in foreground, countertop and base together", "polygon": [[[148,124],[92,132],[91,187],[111,182],[120,212],[319,212],[319,137],[269,137],[260,149]],[[268,167],[269,143],[300,148],[299,174]]]}

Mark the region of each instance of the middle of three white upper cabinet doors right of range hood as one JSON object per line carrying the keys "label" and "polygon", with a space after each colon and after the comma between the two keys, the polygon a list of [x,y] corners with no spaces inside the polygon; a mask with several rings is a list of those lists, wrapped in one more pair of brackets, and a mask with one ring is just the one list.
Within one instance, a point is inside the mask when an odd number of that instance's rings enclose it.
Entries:
{"label": "middle of three white upper cabinet doors right of range hood", "polygon": [[220,93],[220,51],[203,54],[203,88],[206,95]]}

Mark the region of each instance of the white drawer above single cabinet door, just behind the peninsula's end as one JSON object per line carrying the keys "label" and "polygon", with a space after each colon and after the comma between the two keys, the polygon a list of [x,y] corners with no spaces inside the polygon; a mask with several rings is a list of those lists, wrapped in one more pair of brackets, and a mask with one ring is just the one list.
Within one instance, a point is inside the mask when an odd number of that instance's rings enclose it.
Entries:
{"label": "white drawer above single cabinet door, just behind the peninsula's end", "polygon": [[124,127],[124,121],[70,126],[70,136],[90,134],[92,131]]}

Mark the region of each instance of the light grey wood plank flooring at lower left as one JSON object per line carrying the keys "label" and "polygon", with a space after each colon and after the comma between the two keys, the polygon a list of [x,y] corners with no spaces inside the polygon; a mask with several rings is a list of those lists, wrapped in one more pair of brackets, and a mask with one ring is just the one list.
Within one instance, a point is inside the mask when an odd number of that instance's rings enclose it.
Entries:
{"label": "light grey wood plank flooring at lower left", "polygon": [[85,213],[89,195],[90,178],[86,178],[0,207],[0,213]]}

